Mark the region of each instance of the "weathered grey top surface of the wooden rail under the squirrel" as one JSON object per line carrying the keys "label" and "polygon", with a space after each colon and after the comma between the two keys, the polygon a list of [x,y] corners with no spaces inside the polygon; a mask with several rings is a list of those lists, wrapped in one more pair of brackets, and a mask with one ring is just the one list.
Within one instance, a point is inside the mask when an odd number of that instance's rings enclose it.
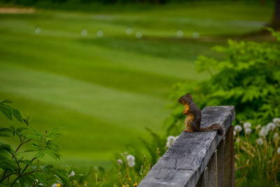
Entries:
{"label": "weathered grey top surface of the wooden rail under the squirrel", "polygon": [[[222,123],[228,131],[234,119],[234,106],[207,106],[202,110],[201,127]],[[196,186],[221,139],[217,132],[182,132],[139,187]]]}

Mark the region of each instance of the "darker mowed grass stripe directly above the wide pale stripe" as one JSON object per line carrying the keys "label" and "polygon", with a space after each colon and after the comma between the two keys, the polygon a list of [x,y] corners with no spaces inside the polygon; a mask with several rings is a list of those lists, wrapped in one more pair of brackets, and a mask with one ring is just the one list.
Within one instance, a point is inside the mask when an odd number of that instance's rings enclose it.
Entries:
{"label": "darker mowed grass stripe directly above the wide pale stripe", "polygon": [[80,41],[53,41],[42,45],[38,37],[38,41],[27,38],[30,42],[26,45],[27,41],[16,39],[0,39],[6,46],[0,48],[1,62],[54,72],[114,89],[167,98],[174,83],[186,78],[201,80],[207,77],[207,74],[197,76],[194,64],[182,60],[163,59],[136,51],[127,53],[107,46],[85,45]]}

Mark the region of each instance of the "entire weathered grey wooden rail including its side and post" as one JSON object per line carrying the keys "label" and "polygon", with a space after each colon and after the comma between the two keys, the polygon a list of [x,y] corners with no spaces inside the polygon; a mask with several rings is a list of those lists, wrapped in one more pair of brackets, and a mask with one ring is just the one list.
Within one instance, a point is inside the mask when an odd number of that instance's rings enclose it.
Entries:
{"label": "entire weathered grey wooden rail including its side and post", "polygon": [[218,136],[217,132],[182,132],[139,183],[139,187],[235,186],[231,125],[234,119],[234,106],[204,108],[201,127],[222,123],[225,125],[225,136]]}

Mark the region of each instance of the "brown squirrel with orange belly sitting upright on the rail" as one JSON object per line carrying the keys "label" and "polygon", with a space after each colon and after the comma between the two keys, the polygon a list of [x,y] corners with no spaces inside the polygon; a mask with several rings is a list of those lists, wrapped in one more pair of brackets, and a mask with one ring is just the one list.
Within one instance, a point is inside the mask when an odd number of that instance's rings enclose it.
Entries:
{"label": "brown squirrel with orange belly sitting upright on the rail", "polygon": [[200,108],[193,102],[193,98],[190,95],[190,93],[187,93],[186,95],[183,95],[178,99],[178,102],[183,104],[185,106],[185,109],[183,111],[183,114],[185,114],[186,120],[186,132],[203,132],[203,131],[217,131],[218,135],[222,136],[225,134],[225,127],[223,127],[223,124],[221,123],[214,123],[210,125],[209,127],[201,128],[201,118],[202,118],[202,112],[200,111]]}

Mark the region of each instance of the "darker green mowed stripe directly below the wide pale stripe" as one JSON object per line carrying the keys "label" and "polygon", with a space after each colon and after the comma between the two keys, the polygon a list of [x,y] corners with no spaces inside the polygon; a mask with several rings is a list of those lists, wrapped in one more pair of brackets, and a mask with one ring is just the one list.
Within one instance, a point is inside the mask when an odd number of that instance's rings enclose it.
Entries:
{"label": "darker green mowed stripe directly below the wide pale stripe", "polygon": [[[6,92],[0,92],[1,97],[6,95]],[[96,152],[97,155],[99,152],[109,150],[120,151],[129,142],[127,139],[138,144],[137,137],[144,135],[141,130],[109,124],[92,115],[58,106],[55,103],[38,101],[19,94],[9,94],[9,99],[14,101],[13,106],[20,105],[18,109],[23,114],[28,111],[31,117],[31,127],[35,127],[39,132],[61,128],[59,132],[62,133],[62,137],[58,139],[59,145],[62,146],[62,151],[73,152],[73,155],[83,155],[83,151]],[[10,123],[3,116],[1,116],[1,120],[6,124]],[[20,124],[15,123],[15,125]],[[71,158],[71,155],[64,155],[64,157]]]}

